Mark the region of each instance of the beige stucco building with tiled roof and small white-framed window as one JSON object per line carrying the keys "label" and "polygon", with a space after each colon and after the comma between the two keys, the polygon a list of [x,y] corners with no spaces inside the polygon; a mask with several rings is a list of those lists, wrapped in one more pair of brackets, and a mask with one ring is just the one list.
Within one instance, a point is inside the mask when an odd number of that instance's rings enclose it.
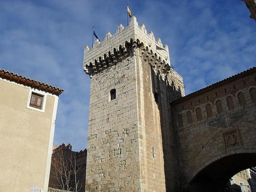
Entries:
{"label": "beige stucco building with tiled roof and small white-framed window", "polygon": [[0,69],[0,191],[46,192],[63,89]]}

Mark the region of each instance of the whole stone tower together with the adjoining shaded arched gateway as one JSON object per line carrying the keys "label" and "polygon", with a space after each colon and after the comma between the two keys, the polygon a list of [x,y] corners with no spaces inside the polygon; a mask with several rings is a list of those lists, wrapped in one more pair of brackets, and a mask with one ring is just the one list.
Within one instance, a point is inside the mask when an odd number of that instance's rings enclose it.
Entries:
{"label": "whole stone tower together with the adjoining shaded arched gateway", "polygon": [[84,71],[86,191],[221,191],[255,165],[256,68],[184,96],[168,46],[133,16],[85,47]]}

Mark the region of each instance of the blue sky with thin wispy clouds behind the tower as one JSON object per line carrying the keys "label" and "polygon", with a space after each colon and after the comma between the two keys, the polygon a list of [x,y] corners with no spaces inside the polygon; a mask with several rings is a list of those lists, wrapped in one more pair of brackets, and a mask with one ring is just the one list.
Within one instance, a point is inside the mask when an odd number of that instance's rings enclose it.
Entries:
{"label": "blue sky with thin wispy clouds behind the tower", "polygon": [[256,64],[256,22],[240,0],[0,1],[0,68],[65,89],[54,143],[87,145],[90,78],[82,71],[92,26],[100,39],[119,23],[126,4],[148,32],[169,45],[186,94]]}

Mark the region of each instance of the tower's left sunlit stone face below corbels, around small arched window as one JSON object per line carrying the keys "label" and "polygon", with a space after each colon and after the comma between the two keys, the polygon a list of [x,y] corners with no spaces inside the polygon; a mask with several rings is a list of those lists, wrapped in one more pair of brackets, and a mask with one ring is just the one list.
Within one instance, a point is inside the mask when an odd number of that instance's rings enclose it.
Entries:
{"label": "tower's left sunlit stone face below corbels, around small arched window", "polygon": [[133,56],[91,79],[86,191],[140,189],[137,116]]}

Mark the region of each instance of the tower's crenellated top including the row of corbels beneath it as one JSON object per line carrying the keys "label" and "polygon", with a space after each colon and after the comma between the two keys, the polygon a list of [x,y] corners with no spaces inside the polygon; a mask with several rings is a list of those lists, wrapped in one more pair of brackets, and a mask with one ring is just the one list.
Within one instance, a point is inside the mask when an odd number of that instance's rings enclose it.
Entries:
{"label": "tower's crenellated top including the row of corbels beneath it", "polygon": [[[147,48],[150,53],[160,57],[164,65],[171,66],[168,45],[163,45],[160,38],[156,40],[152,31],[148,33],[143,23],[139,26],[136,17],[133,16],[129,26],[124,27],[119,24],[116,34],[111,35],[108,31],[103,42],[96,39],[92,49],[88,46],[84,47],[83,69],[85,73],[92,76],[115,65],[116,62],[128,56],[131,49],[141,47],[140,42],[143,42],[143,47]],[[166,65],[164,68],[167,68]]]}

